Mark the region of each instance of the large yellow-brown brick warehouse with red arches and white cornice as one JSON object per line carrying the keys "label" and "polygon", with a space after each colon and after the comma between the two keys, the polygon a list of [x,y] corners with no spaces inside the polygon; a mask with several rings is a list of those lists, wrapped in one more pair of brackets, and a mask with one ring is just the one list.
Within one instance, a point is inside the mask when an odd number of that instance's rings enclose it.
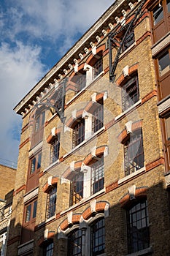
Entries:
{"label": "large yellow-brown brick warehouse with red arches and white cornice", "polygon": [[15,107],[7,255],[169,255],[170,1],[117,0]]}

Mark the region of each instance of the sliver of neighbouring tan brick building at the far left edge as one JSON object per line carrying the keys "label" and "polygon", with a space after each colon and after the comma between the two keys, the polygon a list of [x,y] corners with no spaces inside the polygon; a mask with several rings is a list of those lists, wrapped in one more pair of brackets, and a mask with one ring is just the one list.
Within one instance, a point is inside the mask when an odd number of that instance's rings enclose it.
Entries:
{"label": "sliver of neighbouring tan brick building at the far left edge", "polygon": [[0,255],[6,255],[16,169],[0,165]]}

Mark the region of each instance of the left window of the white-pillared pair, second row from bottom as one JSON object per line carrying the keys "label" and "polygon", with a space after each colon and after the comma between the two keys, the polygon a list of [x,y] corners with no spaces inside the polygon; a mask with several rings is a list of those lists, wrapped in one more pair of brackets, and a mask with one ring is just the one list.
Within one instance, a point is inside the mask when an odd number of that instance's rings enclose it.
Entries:
{"label": "left window of the white-pillared pair, second row from bottom", "polygon": [[76,173],[73,177],[70,195],[71,206],[74,205],[75,203],[80,202],[80,200],[82,200],[83,198],[83,173],[80,171]]}

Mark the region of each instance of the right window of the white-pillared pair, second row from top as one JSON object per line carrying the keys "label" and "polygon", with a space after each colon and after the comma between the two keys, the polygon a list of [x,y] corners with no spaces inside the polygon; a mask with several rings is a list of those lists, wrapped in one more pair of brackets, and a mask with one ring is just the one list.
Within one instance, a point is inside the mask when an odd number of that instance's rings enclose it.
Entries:
{"label": "right window of the white-pillared pair, second row from top", "polygon": [[93,111],[93,132],[97,132],[104,125],[104,105],[103,99],[96,103],[96,109]]}

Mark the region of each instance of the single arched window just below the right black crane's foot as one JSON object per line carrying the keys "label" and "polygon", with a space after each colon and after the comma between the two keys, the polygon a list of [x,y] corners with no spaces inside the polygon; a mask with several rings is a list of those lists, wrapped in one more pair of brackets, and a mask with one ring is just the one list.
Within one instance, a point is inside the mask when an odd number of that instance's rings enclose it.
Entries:
{"label": "single arched window just below the right black crane's foot", "polygon": [[126,80],[122,86],[122,106],[123,111],[130,108],[139,101],[139,84],[136,74]]}

